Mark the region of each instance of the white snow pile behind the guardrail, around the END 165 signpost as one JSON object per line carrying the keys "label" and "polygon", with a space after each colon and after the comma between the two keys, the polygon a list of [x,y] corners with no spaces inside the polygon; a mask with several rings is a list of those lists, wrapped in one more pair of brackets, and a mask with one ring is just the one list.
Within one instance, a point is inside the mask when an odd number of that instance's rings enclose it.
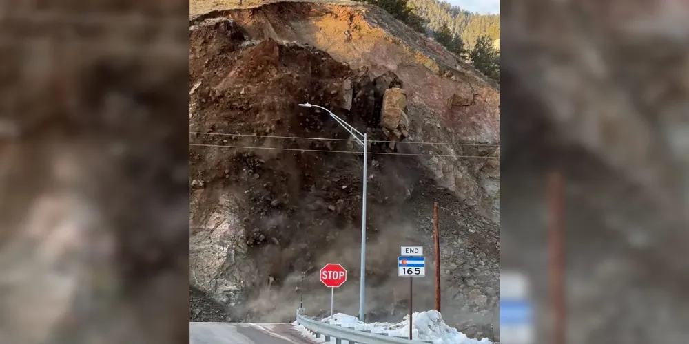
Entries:
{"label": "white snow pile behind the guardrail, around the END 165 signpost", "polygon": [[[427,312],[416,312],[412,316],[412,338],[418,341],[431,341],[433,344],[490,344],[488,338],[480,341],[471,339],[453,327],[449,327],[442,320],[442,315],[437,310]],[[388,334],[409,338],[409,315],[404,316],[400,323],[363,323],[356,316],[347,314],[334,314],[325,319],[324,323],[340,325],[342,327],[353,327],[355,330],[368,330],[371,333]],[[298,325],[296,321],[294,325]],[[298,327],[302,327],[298,325]],[[300,332],[305,333],[306,329],[299,328]],[[335,339],[331,338],[335,343]]]}

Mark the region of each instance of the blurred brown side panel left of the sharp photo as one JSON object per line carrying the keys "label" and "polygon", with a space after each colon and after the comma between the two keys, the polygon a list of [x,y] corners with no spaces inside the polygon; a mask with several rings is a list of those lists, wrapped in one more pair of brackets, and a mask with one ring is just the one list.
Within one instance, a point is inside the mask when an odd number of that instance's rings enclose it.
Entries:
{"label": "blurred brown side panel left of the sharp photo", "polygon": [[188,3],[0,27],[0,343],[187,343]]}

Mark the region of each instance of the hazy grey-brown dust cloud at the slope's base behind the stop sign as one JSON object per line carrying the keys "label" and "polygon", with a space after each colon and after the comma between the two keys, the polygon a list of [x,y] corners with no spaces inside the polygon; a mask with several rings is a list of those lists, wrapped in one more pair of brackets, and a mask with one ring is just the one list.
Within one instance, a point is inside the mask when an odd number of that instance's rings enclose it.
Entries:
{"label": "hazy grey-brown dust cloud at the slope's base behind the stop sign", "polygon": [[[356,233],[356,228],[352,228]],[[407,314],[409,308],[409,279],[397,276],[397,257],[400,246],[409,245],[408,238],[415,236],[416,230],[410,225],[391,226],[379,230],[376,239],[367,241],[367,295],[365,309],[369,321],[399,320]],[[347,269],[347,282],[334,293],[334,311],[345,314],[358,314],[360,292],[360,239],[353,235],[349,239],[340,239],[333,248],[322,252],[304,273],[291,272],[280,283],[280,286],[263,286],[255,297],[247,303],[245,311],[249,314],[260,314],[265,322],[294,321],[296,309],[300,306],[300,295],[303,288],[304,303],[307,314],[329,315],[331,290],[319,280],[320,268],[328,263],[338,263]],[[426,256],[428,253],[426,253]],[[427,259],[429,263],[430,259]],[[429,264],[430,265],[430,264]],[[414,280],[415,309],[431,309],[435,303],[435,290],[431,279],[434,269],[426,268],[426,278]],[[303,283],[303,284],[302,284]],[[406,307],[406,308],[405,308]],[[372,314],[371,314],[372,312]]]}

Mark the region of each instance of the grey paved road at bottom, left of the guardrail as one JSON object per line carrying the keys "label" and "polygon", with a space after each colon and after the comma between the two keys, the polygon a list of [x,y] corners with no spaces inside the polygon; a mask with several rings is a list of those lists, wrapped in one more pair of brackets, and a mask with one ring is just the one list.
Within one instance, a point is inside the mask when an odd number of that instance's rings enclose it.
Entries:
{"label": "grey paved road at bottom, left of the guardrail", "polygon": [[189,323],[189,344],[315,344],[290,324]]}

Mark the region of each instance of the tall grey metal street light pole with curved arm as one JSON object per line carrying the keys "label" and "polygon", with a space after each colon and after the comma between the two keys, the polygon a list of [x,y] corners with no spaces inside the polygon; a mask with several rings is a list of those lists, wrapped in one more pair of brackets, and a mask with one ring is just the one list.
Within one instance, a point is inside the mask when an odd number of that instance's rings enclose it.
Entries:
{"label": "tall grey metal street light pole with curved arm", "polygon": [[367,134],[361,133],[349,123],[339,118],[336,114],[333,114],[329,109],[319,105],[313,105],[309,103],[303,103],[299,105],[300,107],[318,107],[318,109],[325,110],[339,125],[347,129],[351,136],[364,147],[364,180],[362,181],[362,195],[361,195],[361,283],[359,289],[359,320],[364,321],[364,303],[365,303],[365,284],[366,284],[366,184],[369,179],[367,176],[367,153],[368,153],[368,140]]}

